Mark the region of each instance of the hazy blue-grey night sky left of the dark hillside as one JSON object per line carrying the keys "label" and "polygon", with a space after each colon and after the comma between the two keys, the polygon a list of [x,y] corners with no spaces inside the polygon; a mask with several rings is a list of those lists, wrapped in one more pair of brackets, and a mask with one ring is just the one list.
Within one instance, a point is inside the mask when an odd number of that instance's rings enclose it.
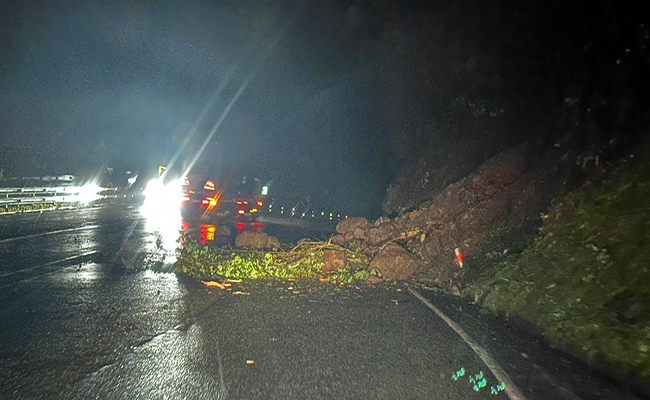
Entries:
{"label": "hazy blue-grey night sky left of the dark hillside", "polygon": [[380,190],[382,163],[362,132],[373,99],[337,43],[341,9],[325,10],[340,13],[330,25],[299,3],[4,7],[5,173],[166,164],[225,83],[190,158],[252,75],[197,168],[227,166],[300,196],[367,202]]}

